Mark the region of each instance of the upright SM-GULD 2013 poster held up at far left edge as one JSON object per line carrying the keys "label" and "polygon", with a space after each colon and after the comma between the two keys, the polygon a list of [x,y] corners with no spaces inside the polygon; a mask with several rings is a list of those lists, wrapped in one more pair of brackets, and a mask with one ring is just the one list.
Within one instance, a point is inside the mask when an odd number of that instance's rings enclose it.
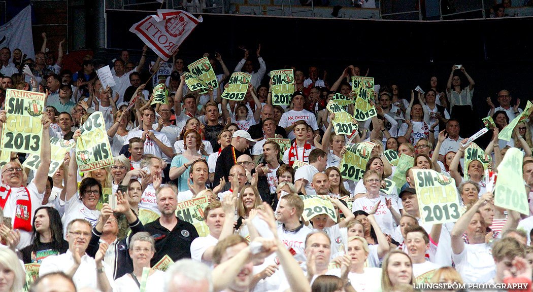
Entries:
{"label": "upright SM-GULD 2013 poster held up at far left edge", "polygon": [[2,128],[1,151],[41,154],[44,95],[11,88],[6,90],[7,120]]}

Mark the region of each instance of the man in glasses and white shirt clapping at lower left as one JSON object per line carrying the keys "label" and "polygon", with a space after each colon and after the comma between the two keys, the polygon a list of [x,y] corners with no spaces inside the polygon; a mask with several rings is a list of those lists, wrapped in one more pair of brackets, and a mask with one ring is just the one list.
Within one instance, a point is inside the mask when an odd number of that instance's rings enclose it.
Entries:
{"label": "man in glasses and white shirt clapping at lower left", "polygon": [[113,271],[102,261],[108,244],[100,244],[95,258],[92,258],[85,253],[91,239],[91,223],[75,219],[68,224],[67,230],[68,251],[45,258],[39,269],[39,277],[61,271],[72,277],[78,289],[90,287],[111,292]]}

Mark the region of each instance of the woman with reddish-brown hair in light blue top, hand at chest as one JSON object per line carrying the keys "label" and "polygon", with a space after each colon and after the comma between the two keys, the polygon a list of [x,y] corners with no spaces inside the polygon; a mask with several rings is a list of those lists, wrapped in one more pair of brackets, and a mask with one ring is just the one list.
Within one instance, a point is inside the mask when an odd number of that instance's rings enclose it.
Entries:
{"label": "woman with reddish-brown hair in light blue top, hand at chest", "polygon": [[185,151],[172,158],[169,171],[169,178],[171,180],[177,179],[176,185],[178,191],[186,191],[189,189],[187,185],[187,180],[189,179],[189,167],[198,159],[204,158],[207,161],[207,156],[203,156],[198,152],[202,140],[200,134],[196,130],[189,129],[185,131],[185,134],[183,134],[183,142],[183,148],[185,148]]}

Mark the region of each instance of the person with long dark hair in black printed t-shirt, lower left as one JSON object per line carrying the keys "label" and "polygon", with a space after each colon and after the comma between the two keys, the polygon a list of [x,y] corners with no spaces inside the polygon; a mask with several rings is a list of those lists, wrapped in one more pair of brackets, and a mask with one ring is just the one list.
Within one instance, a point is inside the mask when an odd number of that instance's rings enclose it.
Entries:
{"label": "person with long dark hair in black printed t-shirt, lower left", "polygon": [[68,243],[63,239],[63,224],[57,210],[52,207],[35,210],[32,240],[20,251],[25,264],[41,263],[49,255],[67,252]]}

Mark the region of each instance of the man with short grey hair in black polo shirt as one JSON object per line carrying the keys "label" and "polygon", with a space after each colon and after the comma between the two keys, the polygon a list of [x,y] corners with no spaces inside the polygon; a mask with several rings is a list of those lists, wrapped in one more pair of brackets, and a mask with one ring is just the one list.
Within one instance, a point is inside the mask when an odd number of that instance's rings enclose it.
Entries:
{"label": "man with short grey hair in black polo shirt", "polygon": [[150,265],[154,266],[165,255],[174,262],[181,258],[190,258],[191,243],[198,237],[198,232],[191,223],[176,217],[176,187],[163,185],[157,190],[156,197],[161,216],[144,226],[144,230],[148,231],[156,242],[156,253]]}

